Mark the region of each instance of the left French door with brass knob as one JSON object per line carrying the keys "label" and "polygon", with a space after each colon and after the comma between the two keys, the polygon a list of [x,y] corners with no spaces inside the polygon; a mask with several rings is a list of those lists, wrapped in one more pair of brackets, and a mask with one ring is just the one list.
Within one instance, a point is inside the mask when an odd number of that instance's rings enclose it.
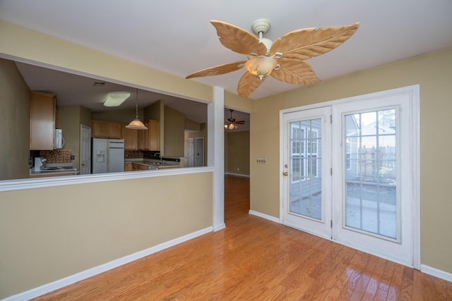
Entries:
{"label": "left French door with brass knob", "polygon": [[331,108],[284,114],[287,226],[331,238]]}

